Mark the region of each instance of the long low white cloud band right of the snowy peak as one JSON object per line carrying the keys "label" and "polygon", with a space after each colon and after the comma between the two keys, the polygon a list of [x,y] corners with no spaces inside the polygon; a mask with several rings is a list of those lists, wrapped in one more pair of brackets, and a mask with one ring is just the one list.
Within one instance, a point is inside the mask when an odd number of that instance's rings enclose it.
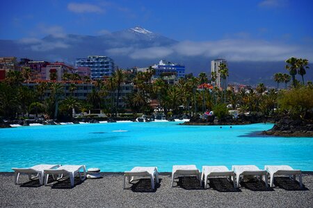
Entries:
{"label": "long low white cloud band right of the snowy peak", "polygon": [[110,55],[128,55],[132,59],[166,58],[169,55],[182,57],[226,58],[239,61],[282,61],[291,56],[313,59],[313,49],[301,45],[281,44],[265,40],[225,39],[207,42],[179,42],[172,46],[148,48],[113,48]]}

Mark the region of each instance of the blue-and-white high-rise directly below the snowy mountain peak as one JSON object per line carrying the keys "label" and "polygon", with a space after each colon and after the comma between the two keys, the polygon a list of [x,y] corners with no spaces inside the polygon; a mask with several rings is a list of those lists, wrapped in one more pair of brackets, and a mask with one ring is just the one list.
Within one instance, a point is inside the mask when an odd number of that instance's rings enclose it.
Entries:
{"label": "blue-and-white high-rise directly below the snowy mountain peak", "polygon": [[155,70],[154,78],[160,78],[161,76],[175,75],[177,79],[185,78],[185,66],[181,64],[175,64],[167,62],[166,60],[160,60],[159,64],[154,64],[152,69]]}

